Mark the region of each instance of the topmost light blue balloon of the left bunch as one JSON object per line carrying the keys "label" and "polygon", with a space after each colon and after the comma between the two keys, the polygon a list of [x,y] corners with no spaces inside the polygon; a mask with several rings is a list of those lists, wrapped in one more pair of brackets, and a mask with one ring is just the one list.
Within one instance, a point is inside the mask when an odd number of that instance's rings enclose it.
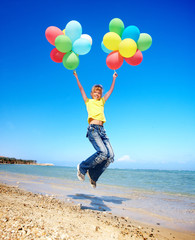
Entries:
{"label": "topmost light blue balloon of the left bunch", "polygon": [[82,34],[82,27],[81,24],[77,21],[70,21],[66,25],[66,36],[68,36],[72,42],[79,39]]}

